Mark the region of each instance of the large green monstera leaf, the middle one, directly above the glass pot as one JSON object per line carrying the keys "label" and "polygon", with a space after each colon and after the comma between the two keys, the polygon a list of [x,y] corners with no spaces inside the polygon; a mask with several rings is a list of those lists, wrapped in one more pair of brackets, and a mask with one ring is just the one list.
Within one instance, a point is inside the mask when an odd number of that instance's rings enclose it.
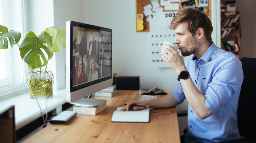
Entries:
{"label": "large green monstera leaf, the middle one, directly above the glass pot", "polygon": [[[37,37],[34,32],[30,31],[19,46],[21,58],[29,64],[32,69],[46,66],[47,62],[53,57],[53,52],[50,50],[53,45],[52,41],[52,36],[47,32],[42,32]],[[47,48],[44,43],[46,43],[49,48]],[[48,59],[46,59],[42,50],[47,54]]]}

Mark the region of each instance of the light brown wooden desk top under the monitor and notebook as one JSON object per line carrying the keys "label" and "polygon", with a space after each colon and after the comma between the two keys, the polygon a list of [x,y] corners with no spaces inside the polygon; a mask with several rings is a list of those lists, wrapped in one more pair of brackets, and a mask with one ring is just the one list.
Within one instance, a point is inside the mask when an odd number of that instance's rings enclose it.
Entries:
{"label": "light brown wooden desk top under the monitor and notebook", "polygon": [[149,123],[111,122],[113,112],[118,106],[138,100],[139,97],[139,91],[133,90],[117,90],[113,97],[97,97],[107,99],[107,108],[98,115],[77,115],[67,125],[50,124],[24,142],[179,143],[176,107],[153,109],[152,111],[156,113],[150,113]]}

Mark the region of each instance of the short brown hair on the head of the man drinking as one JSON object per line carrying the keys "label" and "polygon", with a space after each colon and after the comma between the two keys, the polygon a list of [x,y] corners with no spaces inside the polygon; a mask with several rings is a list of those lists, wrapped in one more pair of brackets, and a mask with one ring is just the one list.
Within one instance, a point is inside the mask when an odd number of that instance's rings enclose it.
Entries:
{"label": "short brown hair on the head of the man drinking", "polygon": [[179,24],[187,24],[187,30],[194,35],[198,28],[203,28],[206,40],[212,41],[212,23],[210,18],[199,8],[183,8],[177,12],[169,26],[175,29]]}

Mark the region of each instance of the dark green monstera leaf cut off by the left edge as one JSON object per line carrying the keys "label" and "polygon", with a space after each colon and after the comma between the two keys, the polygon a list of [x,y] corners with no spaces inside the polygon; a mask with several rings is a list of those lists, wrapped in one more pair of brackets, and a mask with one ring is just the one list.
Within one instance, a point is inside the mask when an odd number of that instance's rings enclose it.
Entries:
{"label": "dark green monstera leaf cut off by the left edge", "polygon": [[21,34],[18,31],[10,30],[8,32],[8,28],[0,25],[0,49],[7,49],[8,48],[8,41],[7,37],[10,41],[11,48],[13,48],[14,44],[18,44],[20,41]]}

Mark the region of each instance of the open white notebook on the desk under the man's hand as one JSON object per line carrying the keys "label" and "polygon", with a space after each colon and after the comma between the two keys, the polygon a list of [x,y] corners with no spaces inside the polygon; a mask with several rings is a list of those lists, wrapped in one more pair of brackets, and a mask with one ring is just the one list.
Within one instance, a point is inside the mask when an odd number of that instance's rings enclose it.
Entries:
{"label": "open white notebook on the desk under the man's hand", "polygon": [[123,107],[117,107],[114,111],[112,122],[149,122],[149,108],[136,111],[120,111]]}

